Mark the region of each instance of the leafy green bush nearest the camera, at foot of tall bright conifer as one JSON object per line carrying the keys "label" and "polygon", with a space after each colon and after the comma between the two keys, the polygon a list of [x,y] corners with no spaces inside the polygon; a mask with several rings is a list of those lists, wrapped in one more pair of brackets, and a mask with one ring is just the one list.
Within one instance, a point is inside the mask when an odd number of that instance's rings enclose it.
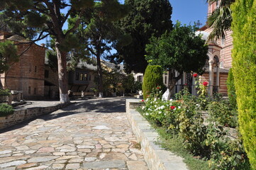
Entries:
{"label": "leafy green bush nearest the camera, at foot of tall bright conifer", "polygon": [[230,140],[226,131],[212,123],[207,125],[206,145],[211,149],[208,165],[218,170],[250,170],[249,159],[241,140]]}

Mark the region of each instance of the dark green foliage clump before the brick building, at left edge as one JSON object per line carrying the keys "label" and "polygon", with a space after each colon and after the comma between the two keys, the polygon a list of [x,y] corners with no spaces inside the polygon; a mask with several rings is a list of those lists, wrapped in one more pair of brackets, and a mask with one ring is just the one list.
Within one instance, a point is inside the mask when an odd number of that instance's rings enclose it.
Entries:
{"label": "dark green foliage clump before the brick building, at left edge", "polygon": [[14,62],[18,62],[17,48],[13,42],[6,40],[0,42],[0,73],[9,70]]}

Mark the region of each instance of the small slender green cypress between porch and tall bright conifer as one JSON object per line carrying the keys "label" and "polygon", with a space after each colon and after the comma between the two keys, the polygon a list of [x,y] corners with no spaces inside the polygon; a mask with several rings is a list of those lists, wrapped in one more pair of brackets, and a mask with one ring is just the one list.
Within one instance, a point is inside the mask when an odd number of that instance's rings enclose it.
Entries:
{"label": "small slender green cypress between porch and tall bright conifer", "polygon": [[237,108],[238,104],[236,103],[235,82],[234,82],[232,68],[228,72],[227,87],[228,87],[228,99],[229,99],[230,105],[233,106],[233,108]]}

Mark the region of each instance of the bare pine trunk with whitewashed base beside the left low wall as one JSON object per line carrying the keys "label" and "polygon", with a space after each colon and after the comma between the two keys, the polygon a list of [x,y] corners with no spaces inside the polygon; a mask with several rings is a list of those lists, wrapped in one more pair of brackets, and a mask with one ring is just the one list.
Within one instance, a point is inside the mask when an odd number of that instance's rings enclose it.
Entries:
{"label": "bare pine trunk with whitewashed base beside the left low wall", "polygon": [[67,52],[60,51],[60,42],[55,42],[59,77],[60,103],[69,103],[67,94]]}

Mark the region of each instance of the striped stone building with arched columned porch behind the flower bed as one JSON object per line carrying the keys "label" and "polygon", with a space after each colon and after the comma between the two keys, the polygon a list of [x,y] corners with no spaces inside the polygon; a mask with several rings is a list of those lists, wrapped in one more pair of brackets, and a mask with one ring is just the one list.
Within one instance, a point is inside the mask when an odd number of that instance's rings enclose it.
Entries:
{"label": "striped stone building with arched columned porch behind the flower bed", "polygon": [[[208,4],[208,15],[218,8],[219,1]],[[207,24],[200,28],[204,38],[208,38],[211,28]],[[218,92],[223,95],[228,94],[226,81],[228,70],[232,67],[231,50],[233,49],[232,31],[226,32],[225,39],[211,40],[208,42],[208,61],[206,62],[206,72],[201,76],[201,81],[208,81],[208,92],[212,95]]]}

